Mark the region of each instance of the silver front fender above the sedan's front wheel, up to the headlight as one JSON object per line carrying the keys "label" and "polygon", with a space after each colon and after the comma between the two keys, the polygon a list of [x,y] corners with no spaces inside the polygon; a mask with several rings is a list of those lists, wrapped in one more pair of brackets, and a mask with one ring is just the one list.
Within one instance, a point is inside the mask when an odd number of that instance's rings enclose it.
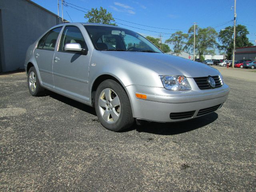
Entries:
{"label": "silver front fender above the sedan's front wheel, up to the headlight", "polygon": [[163,88],[159,75],[153,70],[140,64],[94,50],[89,66],[89,91],[94,81],[101,75],[116,78],[123,87],[142,85]]}

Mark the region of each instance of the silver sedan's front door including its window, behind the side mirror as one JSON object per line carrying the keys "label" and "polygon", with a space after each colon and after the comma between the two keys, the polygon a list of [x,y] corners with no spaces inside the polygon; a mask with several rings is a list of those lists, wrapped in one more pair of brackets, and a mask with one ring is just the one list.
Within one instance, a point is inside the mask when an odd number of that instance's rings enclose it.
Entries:
{"label": "silver sedan's front door including its window, behind the side mirror", "polygon": [[80,29],[76,26],[66,26],[60,39],[59,49],[54,54],[54,89],[88,101],[90,55],[65,51],[64,46],[67,43],[79,43],[81,48],[87,49]]}

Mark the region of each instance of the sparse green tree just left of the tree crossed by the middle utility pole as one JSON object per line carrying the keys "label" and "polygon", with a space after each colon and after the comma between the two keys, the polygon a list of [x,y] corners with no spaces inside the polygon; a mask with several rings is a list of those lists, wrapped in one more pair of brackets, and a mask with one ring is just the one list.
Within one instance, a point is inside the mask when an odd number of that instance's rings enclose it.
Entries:
{"label": "sparse green tree just left of the tree crossed by the middle utility pole", "polygon": [[172,34],[170,38],[165,41],[165,43],[173,44],[174,52],[177,56],[179,56],[179,54],[184,50],[187,38],[188,34],[183,34],[182,31],[177,31],[175,34]]}

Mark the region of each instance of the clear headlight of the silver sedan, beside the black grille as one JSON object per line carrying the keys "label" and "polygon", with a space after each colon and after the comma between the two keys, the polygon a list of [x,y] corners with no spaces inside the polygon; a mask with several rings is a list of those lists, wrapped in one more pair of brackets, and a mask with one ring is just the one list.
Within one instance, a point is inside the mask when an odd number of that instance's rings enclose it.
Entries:
{"label": "clear headlight of the silver sedan, beside the black grille", "polygon": [[160,75],[164,88],[168,90],[190,90],[190,84],[184,76]]}

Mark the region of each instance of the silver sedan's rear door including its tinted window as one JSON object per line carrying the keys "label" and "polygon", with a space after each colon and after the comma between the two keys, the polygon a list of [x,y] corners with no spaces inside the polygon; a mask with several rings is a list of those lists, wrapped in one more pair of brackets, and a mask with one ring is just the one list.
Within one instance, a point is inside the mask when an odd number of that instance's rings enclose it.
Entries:
{"label": "silver sedan's rear door including its tinted window", "polygon": [[38,42],[34,51],[42,84],[50,88],[54,87],[52,76],[52,61],[58,35],[62,27],[54,28],[46,33]]}

